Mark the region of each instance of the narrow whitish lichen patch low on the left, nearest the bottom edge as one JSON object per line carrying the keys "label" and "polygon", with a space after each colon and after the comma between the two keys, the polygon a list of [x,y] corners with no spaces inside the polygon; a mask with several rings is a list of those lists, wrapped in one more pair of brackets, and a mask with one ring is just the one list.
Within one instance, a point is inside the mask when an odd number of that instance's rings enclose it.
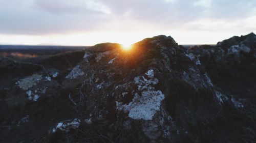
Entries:
{"label": "narrow whitish lichen patch low on the left, nearest the bottom edge", "polygon": [[80,126],[80,120],[74,119],[73,121],[65,121],[57,124],[55,128],[52,129],[52,133],[55,133],[57,130],[69,132],[70,129],[77,129]]}

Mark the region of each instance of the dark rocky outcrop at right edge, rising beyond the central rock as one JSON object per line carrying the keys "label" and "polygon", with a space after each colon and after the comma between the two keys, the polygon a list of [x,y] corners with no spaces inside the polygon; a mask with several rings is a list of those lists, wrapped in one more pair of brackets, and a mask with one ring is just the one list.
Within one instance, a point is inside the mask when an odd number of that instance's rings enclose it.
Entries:
{"label": "dark rocky outcrop at right edge, rising beyond the central rock", "polygon": [[[234,36],[218,42],[215,46],[185,49],[186,52],[194,54],[200,59],[202,67],[208,73],[215,87],[225,92],[228,101],[224,100],[224,105],[234,106],[226,108],[229,111],[227,113],[229,116],[225,117],[226,121],[236,122],[241,126],[232,124],[233,127],[231,127],[227,122],[224,123],[227,124],[225,132],[236,128],[242,134],[238,135],[238,142],[255,140],[255,126],[250,126],[255,124],[256,115],[255,48],[256,35],[250,33],[241,37]],[[251,137],[247,138],[248,136]]]}

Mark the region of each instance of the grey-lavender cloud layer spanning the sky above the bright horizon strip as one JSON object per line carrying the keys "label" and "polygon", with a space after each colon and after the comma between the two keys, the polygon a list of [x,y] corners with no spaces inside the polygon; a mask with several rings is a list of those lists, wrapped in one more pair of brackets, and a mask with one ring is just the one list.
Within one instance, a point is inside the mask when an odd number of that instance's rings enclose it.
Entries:
{"label": "grey-lavender cloud layer spanning the sky above the bright horizon strip", "polygon": [[255,0],[0,0],[0,34],[256,30]]}

